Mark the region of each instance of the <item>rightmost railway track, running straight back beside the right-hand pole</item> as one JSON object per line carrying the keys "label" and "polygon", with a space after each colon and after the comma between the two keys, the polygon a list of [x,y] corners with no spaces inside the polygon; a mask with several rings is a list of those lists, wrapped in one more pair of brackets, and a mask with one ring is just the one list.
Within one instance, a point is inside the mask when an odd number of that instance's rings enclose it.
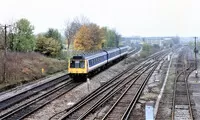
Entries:
{"label": "rightmost railway track, running straight back beside the right-hand pole", "polygon": [[193,120],[192,106],[188,87],[188,77],[194,70],[194,63],[188,60],[187,54],[182,53],[178,59],[177,76],[174,84],[172,101],[172,120]]}

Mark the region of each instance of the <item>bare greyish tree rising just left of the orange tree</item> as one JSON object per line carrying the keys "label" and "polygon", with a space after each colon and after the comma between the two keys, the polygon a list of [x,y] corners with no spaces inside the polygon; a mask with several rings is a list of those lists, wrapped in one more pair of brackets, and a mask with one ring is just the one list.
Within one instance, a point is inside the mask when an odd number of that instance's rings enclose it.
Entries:
{"label": "bare greyish tree rising just left of the orange tree", "polygon": [[87,24],[89,24],[89,20],[84,16],[81,16],[80,18],[76,17],[73,21],[66,22],[65,37],[67,38],[68,49],[71,43],[73,43],[77,31],[81,28],[81,26]]}

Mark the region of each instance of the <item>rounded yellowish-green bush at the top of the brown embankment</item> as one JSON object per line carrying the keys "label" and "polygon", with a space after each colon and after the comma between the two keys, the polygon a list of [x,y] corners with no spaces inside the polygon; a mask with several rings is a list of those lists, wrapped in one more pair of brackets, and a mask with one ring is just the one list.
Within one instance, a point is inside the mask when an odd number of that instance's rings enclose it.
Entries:
{"label": "rounded yellowish-green bush at the top of the brown embankment", "polygon": [[39,35],[36,41],[36,51],[47,56],[55,57],[58,56],[61,51],[61,44],[53,38],[46,38]]}

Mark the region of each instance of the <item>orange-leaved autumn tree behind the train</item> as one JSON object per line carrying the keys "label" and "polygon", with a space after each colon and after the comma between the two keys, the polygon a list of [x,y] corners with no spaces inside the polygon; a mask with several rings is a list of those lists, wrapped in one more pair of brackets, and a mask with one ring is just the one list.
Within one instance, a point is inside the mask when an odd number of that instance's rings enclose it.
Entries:
{"label": "orange-leaved autumn tree behind the train", "polygon": [[83,25],[75,35],[74,48],[76,50],[89,51],[92,50],[94,41],[90,36],[90,29]]}

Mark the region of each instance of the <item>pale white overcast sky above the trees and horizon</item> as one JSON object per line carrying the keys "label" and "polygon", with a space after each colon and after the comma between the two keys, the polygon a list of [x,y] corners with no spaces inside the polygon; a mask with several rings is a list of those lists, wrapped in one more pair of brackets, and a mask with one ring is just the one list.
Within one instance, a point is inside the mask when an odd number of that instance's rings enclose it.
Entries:
{"label": "pale white overcast sky above the trees and horizon", "polygon": [[27,18],[34,33],[85,16],[122,36],[199,36],[199,0],[0,0],[0,24]]}

